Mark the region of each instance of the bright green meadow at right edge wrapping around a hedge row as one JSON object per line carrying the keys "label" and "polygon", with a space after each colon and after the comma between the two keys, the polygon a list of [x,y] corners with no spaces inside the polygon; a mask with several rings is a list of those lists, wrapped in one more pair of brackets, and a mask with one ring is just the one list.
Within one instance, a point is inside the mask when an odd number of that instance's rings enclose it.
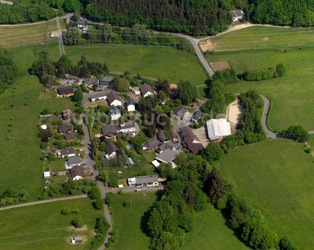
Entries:
{"label": "bright green meadow at right edge wrapping around a hedge row", "polygon": [[239,81],[228,84],[224,92],[241,93],[256,89],[259,94],[272,99],[272,110],[268,117],[269,130],[283,130],[290,125],[303,125],[314,130],[314,50],[290,50],[280,52],[250,52],[217,54],[208,56],[210,62],[227,60],[238,74],[246,69],[268,68],[283,63],[285,75],[263,81]]}

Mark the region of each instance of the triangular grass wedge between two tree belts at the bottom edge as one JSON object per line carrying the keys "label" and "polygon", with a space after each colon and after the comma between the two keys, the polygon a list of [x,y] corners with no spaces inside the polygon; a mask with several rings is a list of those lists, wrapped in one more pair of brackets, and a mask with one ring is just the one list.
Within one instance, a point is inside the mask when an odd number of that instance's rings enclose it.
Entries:
{"label": "triangular grass wedge between two tree belts at the bottom edge", "polygon": [[225,218],[212,204],[196,218],[196,227],[185,235],[180,250],[245,250],[251,249],[241,242],[234,231],[225,225]]}

